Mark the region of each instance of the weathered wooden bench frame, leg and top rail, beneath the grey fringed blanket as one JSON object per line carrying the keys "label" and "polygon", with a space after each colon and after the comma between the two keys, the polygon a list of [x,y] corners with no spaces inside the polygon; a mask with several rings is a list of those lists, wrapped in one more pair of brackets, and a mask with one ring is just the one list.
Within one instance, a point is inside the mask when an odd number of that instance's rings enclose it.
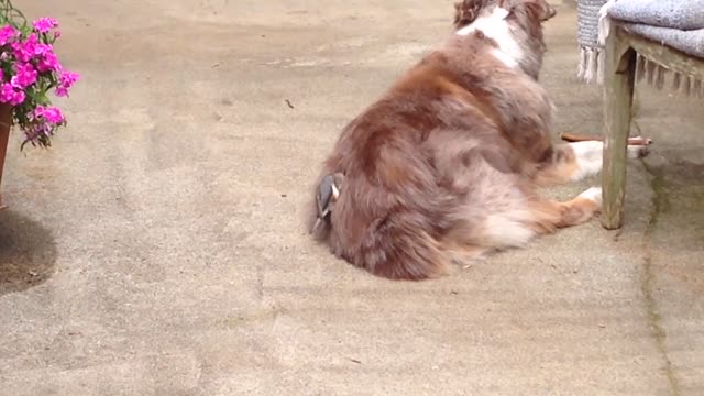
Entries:
{"label": "weathered wooden bench frame, leg and top rail, beneath the grey fringed blanket", "polygon": [[[704,80],[704,59],[629,33],[613,21],[606,37],[604,75],[604,166],[602,226],[608,230],[623,226],[626,195],[626,146],[630,134],[637,54],[672,72]],[[695,94],[696,95],[696,94]]]}

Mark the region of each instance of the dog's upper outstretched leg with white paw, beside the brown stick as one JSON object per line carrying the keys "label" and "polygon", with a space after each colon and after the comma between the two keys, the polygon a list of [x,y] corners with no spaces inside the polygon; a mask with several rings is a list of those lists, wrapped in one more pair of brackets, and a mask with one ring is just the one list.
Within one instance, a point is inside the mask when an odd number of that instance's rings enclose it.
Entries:
{"label": "dog's upper outstretched leg with white paw, beside the brown stick", "polygon": [[[628,158],[637,160],[648,154],[645,145],[629,145]],[[553,147],[551,155],[539,164],[534,176],[541,186],[582,180],[602,170],[604,143],[598,141],[562,143]]]}

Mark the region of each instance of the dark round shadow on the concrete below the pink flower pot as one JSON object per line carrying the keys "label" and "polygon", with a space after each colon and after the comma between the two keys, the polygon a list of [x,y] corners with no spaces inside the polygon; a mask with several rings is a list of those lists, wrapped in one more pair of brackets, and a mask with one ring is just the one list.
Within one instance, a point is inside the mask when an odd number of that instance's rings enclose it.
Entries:
{"label": "dark round shadow on the concrete below the pink flower pot", "polygon": [[51,231],[42,224],[11,210],[0,212],[0,296],[48,279],[56,252]]}

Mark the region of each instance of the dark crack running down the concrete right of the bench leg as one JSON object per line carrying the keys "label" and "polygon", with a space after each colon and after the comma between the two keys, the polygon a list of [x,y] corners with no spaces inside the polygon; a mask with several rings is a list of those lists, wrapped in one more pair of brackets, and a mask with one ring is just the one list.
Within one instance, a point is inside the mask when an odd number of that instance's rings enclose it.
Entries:
{"label": "dark crack running down the concrete right of the bench leg", "polygon": [[662,317],[660,316],[660,309],[658,301],[653,296],[656,275],[652,271],[652,251],[651,251],[651,237],[658,227],[660,216],[670,210],[670,197],[668,195],[668,186],[664,178],[664,170],[662,167],[653,168],[642,161],[646,172],[650,175],[650,188],[652,189],[652,210],[650,211],[650,218],[644,232],[644,278],[641,284],[641,290],[646,300],[646,309],[648,311],[650,328],[652,330],[652,337],[656,342],[658,351],[664,360],[663,371],[668,377],[670,384],[670,392],[673,396],[680,396],[681,389],[678,377],[672,369],[672,362],[668,354],[668,348],[666,344],[668,334],[662,324]]}

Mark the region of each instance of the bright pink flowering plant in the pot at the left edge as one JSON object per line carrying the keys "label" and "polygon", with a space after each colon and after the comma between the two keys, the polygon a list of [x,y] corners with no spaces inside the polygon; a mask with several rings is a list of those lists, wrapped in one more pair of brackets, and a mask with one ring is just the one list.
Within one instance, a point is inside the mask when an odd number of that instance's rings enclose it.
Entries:
{"label": "bright pink flowering plant in the pot at the left edge", "polygon": [[50,94],[68,96],[79,76],[64,69],[54,53],[59,36],[55,19],[30,23],[10,0],[0,0],[0,187],[12,127],[24,134],[22,150],[26,143],[51,146],[51,138],[66,125]]}

